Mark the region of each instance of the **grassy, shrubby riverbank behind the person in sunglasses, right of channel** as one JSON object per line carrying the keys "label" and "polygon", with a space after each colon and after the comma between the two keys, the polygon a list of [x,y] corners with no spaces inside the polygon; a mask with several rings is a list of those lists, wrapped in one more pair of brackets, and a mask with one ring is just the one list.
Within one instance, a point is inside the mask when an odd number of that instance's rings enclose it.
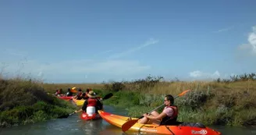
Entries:
{"label": "grassy, shrubby riverbank behind the person in sunglasses, right of channel", "polygon": [[[79,87],[98,89],[101,94],[112,92],[114,96],[106,100],[105,105],[126,108],[134,117],[162,105],[165,94],[176,96],[190,89],[188,94],[175,100],[180,108],[179,121],[200,122],[207,126],[256,126],[256,77],[253,73],[211,82],[161,80],[162,77],[148,76],[133,82],[79,84]],[[77,84],[47,86],[74,87]]]}

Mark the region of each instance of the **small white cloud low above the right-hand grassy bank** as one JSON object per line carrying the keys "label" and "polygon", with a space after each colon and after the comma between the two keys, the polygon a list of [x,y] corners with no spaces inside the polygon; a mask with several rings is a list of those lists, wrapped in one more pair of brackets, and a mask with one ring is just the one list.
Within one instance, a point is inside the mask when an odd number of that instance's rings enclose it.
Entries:
{"label": "small white cloud low above the right-hand grassy bank", "polygon": [[190,72],[190,77],[197,78],[197,79],[216,79],[219,78],[220,73],[219,71],[215,71],[215,73],[204,73],[199,70]]}

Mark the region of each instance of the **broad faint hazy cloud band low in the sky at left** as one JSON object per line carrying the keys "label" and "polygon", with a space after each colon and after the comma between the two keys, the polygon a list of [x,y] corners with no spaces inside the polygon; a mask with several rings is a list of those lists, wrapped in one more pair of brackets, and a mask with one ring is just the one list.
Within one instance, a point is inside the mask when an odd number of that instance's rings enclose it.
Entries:
{"label": "broad faint hazy cloud band low in the sky at left", "polygon": [[27,60],[27,63],[22,68],[18,65],[17,63],[9,62],[8,66],[5,66],[5,73],[9,73],[9,76],[16,76],[17,73],[23,73],[33,75],[37,78],[44,77],[44,79],[47,78],[48,80],[51,80],[52,76],[72,75],[75,78],[77,74],[83,74],[84,78],[87,78],[87,74],[105,74],[111,78],[112,76],[125,77],[136,75],[151,68],[133,60],[97,61],[93,59],[51,62],[47,64]]}

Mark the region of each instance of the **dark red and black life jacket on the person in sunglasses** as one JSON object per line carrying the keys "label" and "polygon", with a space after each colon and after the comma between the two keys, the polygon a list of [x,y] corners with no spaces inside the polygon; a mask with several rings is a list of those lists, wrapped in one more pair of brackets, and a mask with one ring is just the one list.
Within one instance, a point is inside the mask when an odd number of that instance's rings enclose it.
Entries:
{"label": "dark red and black life jacket on the person in sunglasses", "polygon": [[164,118],[162,118],[160,125],[174,125],[178,118],[178,107],[176,105],[172,105],[166,106],[166,108],[172,108],[173,114],[171,116],[166,115]]}

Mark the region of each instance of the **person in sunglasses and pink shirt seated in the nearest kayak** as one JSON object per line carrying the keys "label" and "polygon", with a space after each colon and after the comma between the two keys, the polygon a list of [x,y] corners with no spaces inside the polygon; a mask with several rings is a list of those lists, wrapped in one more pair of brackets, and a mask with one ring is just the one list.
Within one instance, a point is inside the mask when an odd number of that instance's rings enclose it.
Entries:
{"label": "person in sunglasses and pink shirt seated in the nearest kayak", "polygon": [[155,124],[155,125],[175,125],[178,118],[178,108],[174,105],[174,98],[171,94],[165,96],[165,108],[162,113],[154,111],[151,114],[144,114],[142,119],[139,119],[138,123],[141,124]]}

